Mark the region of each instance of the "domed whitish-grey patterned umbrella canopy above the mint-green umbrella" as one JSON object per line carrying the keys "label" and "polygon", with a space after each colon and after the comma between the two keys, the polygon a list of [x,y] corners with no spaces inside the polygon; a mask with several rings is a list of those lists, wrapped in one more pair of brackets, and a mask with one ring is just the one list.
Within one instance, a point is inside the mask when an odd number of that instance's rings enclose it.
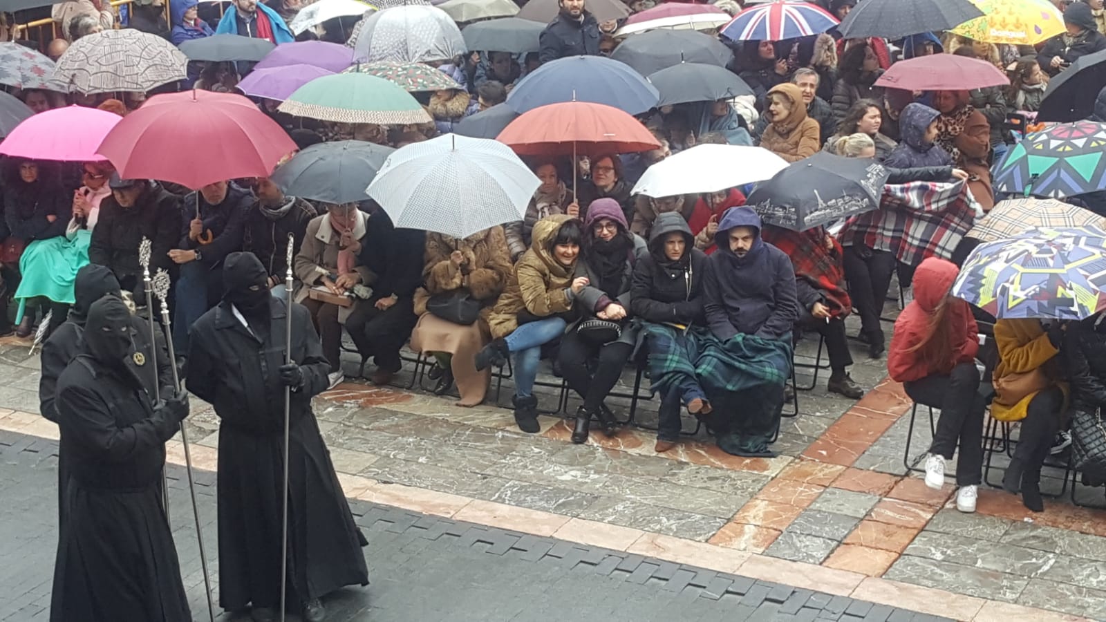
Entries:
{"label": "domed whitish-grey patterned umbrella canopy above the mint-green umbrella", "polygon": [[393,7],[363,20],[353,45],[359,62],[447,61],[466,51],[465,39],[445,11],[437,7]]}

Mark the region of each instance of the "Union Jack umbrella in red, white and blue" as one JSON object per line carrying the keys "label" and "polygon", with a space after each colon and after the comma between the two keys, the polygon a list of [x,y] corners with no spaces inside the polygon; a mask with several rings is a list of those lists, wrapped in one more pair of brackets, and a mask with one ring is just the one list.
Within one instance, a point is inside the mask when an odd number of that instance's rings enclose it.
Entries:
{"label": "Union Jack umbrella in red, white and blue", "polygon": [[828,11],[810,2],[775,0],[741,11],[720,34],[731,41],[783,41],[825,32],[837,23]]}

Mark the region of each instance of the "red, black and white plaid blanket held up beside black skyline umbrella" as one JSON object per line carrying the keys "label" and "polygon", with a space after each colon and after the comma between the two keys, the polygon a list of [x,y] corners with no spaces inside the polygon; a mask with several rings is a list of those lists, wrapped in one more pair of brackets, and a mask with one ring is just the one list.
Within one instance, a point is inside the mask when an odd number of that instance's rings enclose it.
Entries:
{"label": "red, black and white plaid blanket held up beside black skyline umbrella", "polygon": [[849,218],[838,239],[843,246],[862,243],[917,266],[927,257],[951,258],[978,210],[963,182],[888,184],[879,209]]}

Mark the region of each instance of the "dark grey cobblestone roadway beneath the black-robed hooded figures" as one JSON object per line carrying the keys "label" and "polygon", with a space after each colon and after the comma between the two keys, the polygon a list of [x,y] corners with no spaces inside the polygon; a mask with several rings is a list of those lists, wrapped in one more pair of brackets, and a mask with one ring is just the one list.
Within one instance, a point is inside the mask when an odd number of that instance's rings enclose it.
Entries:
{"label": "dark grey cobblestone roadway beneath the black-robed hooded figures", "polygon": [[[0,432],[0,620],[45,620],[56,547],[58,444]],[[192,616],[207,619],[185,474],[173,466],[170,519]],[[197,473],[205,538],[216,547],[215,477]],[[947,620],[640,554],[352,500],[372,584],[325,599],[328,620],[547,621]],[[215,580],[218,562],[212,562]],[[221,613],[220,621],[236,618]],[[237,619],[248,620],[248,615]],[[290,616],[290,620],[298,620]]]}

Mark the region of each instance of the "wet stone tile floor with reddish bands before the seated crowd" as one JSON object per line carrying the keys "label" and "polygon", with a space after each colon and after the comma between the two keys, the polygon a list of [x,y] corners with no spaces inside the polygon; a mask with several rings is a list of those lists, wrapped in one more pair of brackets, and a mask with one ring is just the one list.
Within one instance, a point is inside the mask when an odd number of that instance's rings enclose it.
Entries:
{"label": "wet stone tile floor with reddish bands before the seated crowd", "polygon": [[[799,360],[811,362],[815,348],[804,341]],[[608,546],[604,538],[633,533],[636,541],[638,533],[651,533],[703,554],[742,551],[752,556],[745,564],[772,567],[779,559],[811,564],[785,567],[792,570],[836,572],[817,574],[818,580],[890,580],[862,581],[851,590],[875,593],[914,584],[992,601],[993,611],[1011,603],[1106,619],[1106,511],[1075,507],[1063,496],[1034,515],[1018,497],[984,486],[978,514],[958,512],[950,506],[951,484],[931,490],[906,473],[910,402],[900,386],[884,380],[884,361],[867,359],[860,348],[854,357],[853,376],[868,394],[855,404],[828,395],[823,372],[813,391],[799,392],[800,414],[783,419],[775,445],[781,455],[771,459],[729,456],[702,431],[661,455],[653,452],[653,433],[635,427],[614,438],[593,435],[576,446],[567,440],[567,425],[547,416],[540,434],[526,435],[509,411],[493,405],[494,391],[488,405],[460,408],[418,386],[406,391],[351,381],[320,396],[316,415],[335,467],[351,486],[383,494],[375,491],[396,485],[406,500],[441,510],[431,514],[463,507],[473,516],[453,518],[490,525],[512,519],[503,508],[518,508],[513,519],[520,525],[507,528],[538,532],[526,519],[559,528],[570,520],[587,526],[581,537],[603,540],[599,546]],[[357,371],[355,359],[344,364],[347,376]],[[24,343],[0,340],[0,408],[38,412],[36,367]],[[804,383],[810,377],[801,370]],[[616,391],[633,386],[627,372]],[[510,393],[505,381],[498,402],[505,404]],[[560,394],[546,390],[540,397],[552,408]],[[611,404],[625,414],[629,401],[613,397]],[[655,402],[641,402],[637,411],[637,423],[655,422]],[[218,419],[209,406],[196,401],[188,426],[198,445],[217,446]],[[690,431],[695,422],[685,426]],[[910,465],[928,443],[922,408]],[[995,452],[991,481],[1001,480],[1004,464],[1005,455]],[[1058,493],[1063,473],[1046,469],[1045,490]],[[348,487],[347,494],[356,496]],[[1078,495],[1102,504],[1100,488],[1081,486]],[[481,507],[499,509],[473,509]]]}

